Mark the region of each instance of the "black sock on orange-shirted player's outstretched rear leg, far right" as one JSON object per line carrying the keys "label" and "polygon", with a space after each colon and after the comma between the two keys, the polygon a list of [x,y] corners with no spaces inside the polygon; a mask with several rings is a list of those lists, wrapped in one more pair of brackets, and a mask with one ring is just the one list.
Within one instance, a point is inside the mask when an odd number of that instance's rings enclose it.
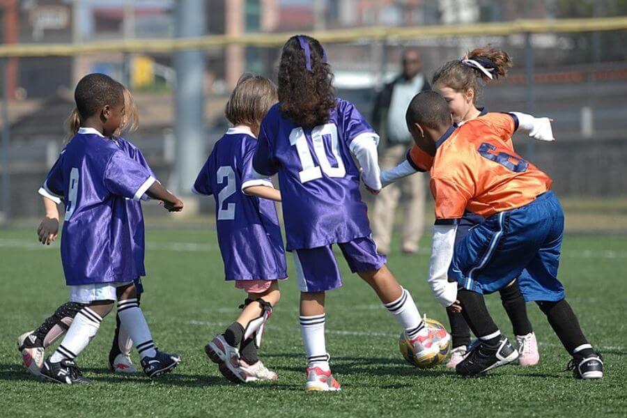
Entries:
{"label": "black sock on orange-shirted player's outstretched rear leg, far right", "polygon": [[[573,355],[575,348],[589,344],[581,330],[575,312],[573,312],[571,305],[566,302],[566,299],[562,299],[558,302],[542,301],[536,303],[546,315],[553,331],[557,334],[559,341],[562,341],[562,345],[564,345],[568,353]],[[593,353],[594,350],[592,350],[592,348],[585,348],[578,351],[578,354],[583,356]]]}

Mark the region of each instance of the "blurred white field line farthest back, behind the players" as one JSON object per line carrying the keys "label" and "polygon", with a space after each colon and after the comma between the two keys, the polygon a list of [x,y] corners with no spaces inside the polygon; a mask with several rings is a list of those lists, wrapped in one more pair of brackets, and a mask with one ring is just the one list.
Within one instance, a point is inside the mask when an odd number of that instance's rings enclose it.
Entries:
{"label": "blurred white field line farthest back, behind the players", "polygon": [[[52,245],[41,245],[36,241],[36,237],[33,233],[33,240],[14,240],[0,238],[0,247],[15,248],[15,249],[48,249],[57,248],[58,245],[53,243]],[[216,252],[219,251],[219,247],[213,244],[200,244],[197,242],[148,242],[146,243],[146,249],[154,251],[178,251],[178,252]],[[421,249],[418,251],[420,255],[429,255],[430,251]],[[613,249],[607,250],[595,250],[595,249],[583,249],[583,250],[563,250],[562,256],[573,258],[627,258],[627,251],[616,251]]]}

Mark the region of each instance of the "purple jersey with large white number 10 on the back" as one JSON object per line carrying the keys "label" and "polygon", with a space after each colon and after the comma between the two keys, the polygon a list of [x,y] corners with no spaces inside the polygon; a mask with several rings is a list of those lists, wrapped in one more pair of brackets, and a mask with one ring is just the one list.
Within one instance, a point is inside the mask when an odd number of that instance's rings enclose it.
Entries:
{"label": "purple jersey with large white number 10 on the back", "polygon": [[378,135],[346,100],[337,99],[329,121],[313,129],[282,116],[279,105],[263,118],[253,167],[256,176],[279,173],[288,251],[368,237],[350,143]]}

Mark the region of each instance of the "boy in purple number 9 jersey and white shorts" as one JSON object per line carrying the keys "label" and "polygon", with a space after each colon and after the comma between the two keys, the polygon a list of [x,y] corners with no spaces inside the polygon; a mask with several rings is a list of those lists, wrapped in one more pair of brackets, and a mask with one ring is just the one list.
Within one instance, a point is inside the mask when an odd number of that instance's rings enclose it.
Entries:
{"label": "boy in purple number 9 jersey and white shorts", "polygon": [[182,210],[183,203],[111,140],[124,120],[121,84],[106,75],[87,75],[77,84],[75,101],[81,127],[49,171],[43,188],[65,203],[63,272],[70,302],[83,307],[44,362],[40,376],[60,383],[88,382],[74,359],[98,332],[114,300],[144,372],[158,376],[173,369],[180,358],[157,351],[139,308],[133,283],[139,271],[125,199],[139,200],[147,194],[163,201],[170,211]]}

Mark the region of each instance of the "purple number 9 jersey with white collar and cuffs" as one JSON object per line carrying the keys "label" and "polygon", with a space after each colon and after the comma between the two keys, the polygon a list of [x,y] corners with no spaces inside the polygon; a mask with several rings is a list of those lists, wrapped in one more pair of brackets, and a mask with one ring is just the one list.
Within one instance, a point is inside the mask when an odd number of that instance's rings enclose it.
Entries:
{"label": "purple number 9 jersey with white collar and cuffs", "polygon": [[[154,181],[150,170],[96,130],[81,128],[72,137],[43,185],[65,203],[61,261],[66,284],[139,277],[126,199],[139,201]],[[143,228],[139,231],[143,235]]]}

